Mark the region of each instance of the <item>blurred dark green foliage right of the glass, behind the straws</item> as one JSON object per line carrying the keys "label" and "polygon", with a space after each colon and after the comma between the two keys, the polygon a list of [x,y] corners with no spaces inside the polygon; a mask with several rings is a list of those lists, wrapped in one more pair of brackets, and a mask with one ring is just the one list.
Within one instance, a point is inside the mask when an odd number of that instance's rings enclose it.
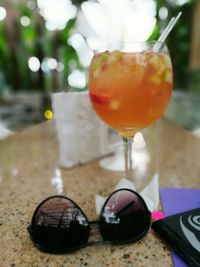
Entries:
{"label": "blurred dark green foliage right of the glass, behind the straws", "polygon": [[[150,39],[157,39],[171,17],[182,11],[181,18],[166,40],[174,69],[174,89],[200,92],[200,70],[191,71],[189,68],[192,18],[198,0],[189,0],[183,5],[178,5],[173,0],[157,0],[156,2],[158,23]],[[164,21],[159,18],[161,7],[168,9],[168,16]]]}

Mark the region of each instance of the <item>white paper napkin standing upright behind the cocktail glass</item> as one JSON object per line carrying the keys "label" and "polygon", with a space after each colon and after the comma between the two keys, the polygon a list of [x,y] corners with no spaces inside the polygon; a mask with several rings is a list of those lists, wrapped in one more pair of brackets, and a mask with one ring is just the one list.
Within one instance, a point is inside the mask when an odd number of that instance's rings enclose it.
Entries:
{"label": "white paper napkin standing upright behind the cocktail glass", "polygon": [[95,114],[88,91],[54,93],[52,109],[59,165],[71,168],[115,151],[108,142],[108,126]]}

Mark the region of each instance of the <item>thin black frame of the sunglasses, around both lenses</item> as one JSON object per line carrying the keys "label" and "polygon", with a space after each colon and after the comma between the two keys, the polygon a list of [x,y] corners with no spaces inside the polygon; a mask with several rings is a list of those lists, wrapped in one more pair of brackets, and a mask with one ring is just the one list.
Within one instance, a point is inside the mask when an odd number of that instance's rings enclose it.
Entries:
{"label": "thin black frame of the sunglasses, around both lenses", "polygon": [[[110,240],[98,240],[98,241],[91,241],[91,242],[86,242],[86,243],[83,243],[81,244],[80,246],[76,246],[76,247],[72,247],[71,249],[66,249],[66,248],[63,248],[63,249],[53,249],[53,248],[45,248],[43,246],[41,246],[40,244],[38,244],[35,240],[34,240],[34,236],[33,236],[33,232],[32,232],[32,228],[33,228],[33,221],[34,221],[34,218],[35,218],[35,215],[37,214],[39,208],[45,203],[47,202],[48,200],[50,199],[53,199],[53,198],[63,198],[63,199],[66,199],[68,201],[70,201],[76,208],[78,208],[81,213],[84,215],[87,223],[88,223],[88,227],[89,227],[89,235],[88,235],[88,239],[89,239],[89,236],[90,236],[90,233],[91,233],[91,229],[94,228],[92,226],[96,226],[96,228],[99,228],[99,221],[100,221],[100,218],[101,218],[101,214],[102,212],[104,211],[104,208],[107,204],[107,202],[109,201],[109,199],[114,195],[116,194],[117,192],[119,191],[129,191],[133,194],[135,194],[140,200],[141,202],[143,203],[145,209],[146,209],[146,215],[147,215],[147,220],[149,221],[149,224],[148,224],[148,227],[146,229],[144,229],[144,231],[133,237],[133,238],[130,238],[130,239],[126,239],[126,240],[122,240],[122,241],[110,241]],[[112,192],[108,198],[106,199],[104,205],[102,206],[101,208],[101,212],[100,212],[100,215],[99,215],[99,219],[95,220],[95,221],[89,221],[86,214],[83,212],[83,210],[79,207],[78,204],[76,204],[76,202],[74,202],[72,199],[66,197],[66,196],[63,196],[63,195],[53,195],[53,196],[50,196],[50,197],[47,197],[45,198],[38,206],[37,208],[35,209],[34,213],[33,213],[33,216],[32,216],[32,221],[31,221],[31,224],[27,227],[27,230],[29,232],[29,235],[30,235],[30,238],[34,244],[35,247],[37,247],[40,251],[43,251],[43,252],[46,252],[46,253],[52,253],[52,254],[67,254],[67,253],[73,253],[73,252],[76,252],[78,251],[79,249],[81,248],[84,248],[84,247],[88,247],[88,246],[94,246],[94,245],[104,245],[104,244],[111,244],[111,245],[116,245],[116,246],[119,246],[119,245],[124,245],[124,244],[129,244],[129,243],[135,243],[137,242],[138,240],[142,239],[146,234],[147,232],[149,231],[149,228],[150,228],[150,225],[151,225],[151,212],[148,210],[147,208],[147,205],[144,201],[144,199],[135,191],[131,190],[131,189],[128,189],[128,188],[121,188],[121,189],[118,189],[118,190],[115,190],[114,192]],[[99,231],[100,232],[100,231]]]}

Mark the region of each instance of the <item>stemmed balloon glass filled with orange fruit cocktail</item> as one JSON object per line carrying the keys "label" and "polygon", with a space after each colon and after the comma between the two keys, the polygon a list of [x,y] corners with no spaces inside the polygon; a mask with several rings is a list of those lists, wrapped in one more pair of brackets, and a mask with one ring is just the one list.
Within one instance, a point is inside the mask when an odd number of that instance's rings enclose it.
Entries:
{"label": "stemmed balloon glass filled with orange fruit cocktail", "polygon": [[157,42],[106,45],[90,65],[90,99],[98,116],[122,136],[129,180],[135,133],[159,119],[171,97],[170,55],[163,43],[156,47]]}

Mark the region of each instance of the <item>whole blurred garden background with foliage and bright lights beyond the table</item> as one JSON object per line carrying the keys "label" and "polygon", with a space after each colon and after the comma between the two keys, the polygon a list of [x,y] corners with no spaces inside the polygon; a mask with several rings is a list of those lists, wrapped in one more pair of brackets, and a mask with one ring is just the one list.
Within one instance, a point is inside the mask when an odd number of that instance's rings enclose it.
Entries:
{"label": "whole blurred garden background with foliage and bright lights beyond the table", "polygon": [[200,127],[198,0],[0,0],[0,123],[19,130],[45,120],[52,93],[87,90],[91,48],[102,39],[118,40],[123,27],[128,40],[157,39],[179,11],[167,40],[174,95],[166,116]]}

